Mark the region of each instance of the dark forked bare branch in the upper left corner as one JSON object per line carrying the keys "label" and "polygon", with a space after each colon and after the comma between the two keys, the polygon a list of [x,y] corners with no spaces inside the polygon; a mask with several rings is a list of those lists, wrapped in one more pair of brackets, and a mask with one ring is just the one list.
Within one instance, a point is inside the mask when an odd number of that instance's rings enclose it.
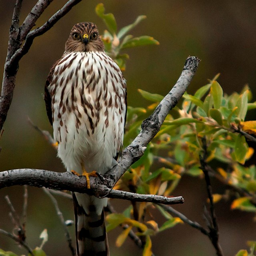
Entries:
{"label": "dark forked bare branch in the upper left corner", "polygon": [[[8,51],[4,65],[4,76],[0,97],[0,134],[2,133],[4,122],[12,103],[13,92],[16,84],[16,74],[18,72],[18,64],[20,59],[28,52],[30,46],[32,45],[33,39],[36,36],[44,34],[81,0],[69,0],[43,26],[30,32],[36,20],[41,16],[46,7],[52,1],[53,0],[39,0],[28,14],[23,24],[19,26],[22,0],[16,0],[16,5],[14,7],[12,16],[12,24],[9,32]],[[22,45],[22,43],[24,44]]]}

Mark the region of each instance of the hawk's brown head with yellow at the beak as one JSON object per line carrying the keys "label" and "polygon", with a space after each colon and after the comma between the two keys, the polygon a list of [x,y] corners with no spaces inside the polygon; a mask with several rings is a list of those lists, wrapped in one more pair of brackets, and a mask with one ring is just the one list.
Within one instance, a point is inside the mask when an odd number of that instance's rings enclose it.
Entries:
{"label": "hawk's brown head with yellow at the beak", "polygon": [[98,28],[91,22],[74,25],[65,45],[65,52],[104,51]]}

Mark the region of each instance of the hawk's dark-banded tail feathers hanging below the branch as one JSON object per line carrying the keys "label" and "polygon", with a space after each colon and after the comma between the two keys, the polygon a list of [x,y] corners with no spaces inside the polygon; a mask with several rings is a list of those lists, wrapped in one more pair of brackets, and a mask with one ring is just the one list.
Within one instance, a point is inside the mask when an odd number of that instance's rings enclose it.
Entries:
{"label": "hawk's dark-banded tail feathers hanging below the branch", "polygon": [[109,256],[108,238],[104,220],[104,210],[98,215],[95,206],[89,206],[90,213],[78,204],[73,193],[75,223],[76,223],[76,250],[78,256]]}

